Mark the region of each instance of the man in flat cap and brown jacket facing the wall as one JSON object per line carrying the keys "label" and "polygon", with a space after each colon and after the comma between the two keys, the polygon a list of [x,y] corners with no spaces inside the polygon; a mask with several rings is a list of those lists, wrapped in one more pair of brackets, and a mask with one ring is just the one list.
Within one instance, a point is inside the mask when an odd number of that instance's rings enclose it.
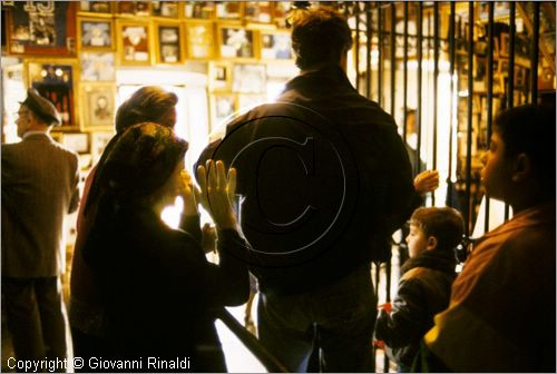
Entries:
{"label": "man in flat cap and brown jacket facing the wall", "polygon": [[16,124],[20,142],[2,145],[2,296],[18,360],[67,356],[60,274],[63,217],[79,203],[78,157],[49,135],[56,107],[28,90]]}

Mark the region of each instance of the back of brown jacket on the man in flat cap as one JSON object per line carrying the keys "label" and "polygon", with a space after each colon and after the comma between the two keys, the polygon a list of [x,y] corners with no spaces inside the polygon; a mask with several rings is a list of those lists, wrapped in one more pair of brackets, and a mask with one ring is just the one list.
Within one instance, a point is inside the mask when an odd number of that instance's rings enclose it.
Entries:
{"label": "back of brown jacket on the man in flat cap", "polygon": [[41,134],[2,145],[2,275],[63,269],[63,216],[78,204],[77,156]]}

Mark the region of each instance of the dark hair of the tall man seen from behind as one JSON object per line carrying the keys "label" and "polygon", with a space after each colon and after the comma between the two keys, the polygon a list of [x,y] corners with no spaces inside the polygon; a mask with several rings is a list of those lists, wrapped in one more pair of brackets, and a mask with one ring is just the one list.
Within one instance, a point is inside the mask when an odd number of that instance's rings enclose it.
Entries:
{"label": "dark hair of the tall man seen from behind", "polygon": [[352,47],[352,31],[334,9],[295,9],[291,14],[292,49],[296,66],[306,70],[323,62],[339,63]]}

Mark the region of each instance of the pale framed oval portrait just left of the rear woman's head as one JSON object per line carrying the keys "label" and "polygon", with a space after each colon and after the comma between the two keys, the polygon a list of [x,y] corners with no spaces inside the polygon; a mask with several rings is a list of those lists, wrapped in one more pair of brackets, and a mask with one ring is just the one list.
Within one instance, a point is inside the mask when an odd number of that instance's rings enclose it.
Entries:
{"label": "pale framed oval portrait just left of the rear woman's head", "polygon": [[110,130],[114,128],[116,87],[114,83],[81,85],[84,99],[84,131]]}

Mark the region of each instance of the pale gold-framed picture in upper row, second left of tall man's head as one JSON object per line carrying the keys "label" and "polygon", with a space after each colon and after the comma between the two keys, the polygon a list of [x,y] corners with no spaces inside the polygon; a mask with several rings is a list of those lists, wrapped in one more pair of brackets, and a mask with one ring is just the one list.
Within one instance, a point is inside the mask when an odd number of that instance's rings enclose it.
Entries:
{"label": "pale gold-framed picture in upper row, second left of tall man's head", "polygon": [[218,52],[221,58],[254,59],[255,31],[243,27],[219,26]]}

